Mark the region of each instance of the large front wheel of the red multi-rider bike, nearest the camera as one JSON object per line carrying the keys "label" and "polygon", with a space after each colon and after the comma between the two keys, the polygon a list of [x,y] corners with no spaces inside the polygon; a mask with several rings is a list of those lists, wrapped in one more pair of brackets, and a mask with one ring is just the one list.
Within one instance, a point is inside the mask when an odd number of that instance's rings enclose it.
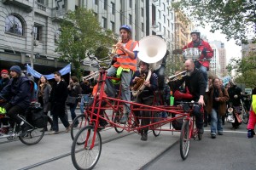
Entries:
{"label": "large front wheel of the red multi-rider bike, nearest the camera", "polygon": [[[92,169],[96,166],[102,152],[102,138],[97,131],[93,148],[90,148],[94,136],[94,127],[83,127],[73,139],[71,157],[73,166],[80,170]],[[87,144],[85,144],[85,141]]]}

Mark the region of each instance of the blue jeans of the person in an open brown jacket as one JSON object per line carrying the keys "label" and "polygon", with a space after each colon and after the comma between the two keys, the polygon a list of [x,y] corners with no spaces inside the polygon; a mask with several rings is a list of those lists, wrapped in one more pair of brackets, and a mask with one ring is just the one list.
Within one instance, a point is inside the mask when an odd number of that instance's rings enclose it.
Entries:
{"label": "blue jeans of the person in an open brown jacket", "polygon": [[222,127],[222,118],[218,115],[218,112],[215,109],[212,109],[211,114],[211,134],[216,134],[216,130],[219,132],[223,132]]}

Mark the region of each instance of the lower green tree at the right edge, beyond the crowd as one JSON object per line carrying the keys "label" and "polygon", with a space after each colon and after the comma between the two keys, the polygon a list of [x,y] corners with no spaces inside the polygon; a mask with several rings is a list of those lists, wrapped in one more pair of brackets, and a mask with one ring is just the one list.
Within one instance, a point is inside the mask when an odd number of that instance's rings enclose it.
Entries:
{"label": "lower green tree at the right edge, beyond the crowd", "polygon": [[256,54],[251,53],[243,59],[231,59],[228,71],[236,71],[236,82],[245,83],[247,88],[256,87]]}

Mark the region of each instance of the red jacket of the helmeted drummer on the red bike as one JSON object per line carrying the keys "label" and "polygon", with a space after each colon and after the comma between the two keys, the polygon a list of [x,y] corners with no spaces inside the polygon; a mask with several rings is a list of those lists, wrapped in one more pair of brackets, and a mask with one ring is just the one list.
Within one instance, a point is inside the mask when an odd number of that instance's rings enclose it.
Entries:
{"label": "red jacket of the helmeted drummer on the red bike", "polygon": [[[188,45],[183,47],[183,49],[186,49],[186,48],[194,48],[194,42],[189,42]],[[199,59],[204,59],[204,58],[211,59],[212,58],[213,50],[212,50],[212,48],[211,48],[211,46],[209,45],[208,42],[205,42],[201,39],[201,42],[200,42],[200,44],[197,48],[199,48],[201,51],[204,48],[207,48],[207,56],[205,56],[204,54],[201,54],[201,57]],[[207,67],[207,69],[209,70],[209,65],[210,65],[209,61],[200,61],[199,60],[199,62],[201,63],[201,65]]]}

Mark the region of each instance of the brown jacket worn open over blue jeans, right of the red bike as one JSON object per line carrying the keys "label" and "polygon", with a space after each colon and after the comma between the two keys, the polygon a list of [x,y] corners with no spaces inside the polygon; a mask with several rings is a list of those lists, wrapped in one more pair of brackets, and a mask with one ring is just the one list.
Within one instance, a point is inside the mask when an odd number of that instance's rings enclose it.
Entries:
{"label": "brown jacket worn open over blue jeans, right of the red bike", "polygon": [[219,101],[215,101],[213,99],[213,92],[214,89],[212,86],[209,88],[209,91],[207,92],[207,97],[208,97],[208,101],[207,101],[207,113],[211,114],[212,113],[212,105],[213,102],[217,102],[218,103],[218,114],[220,116],[224,116],[227,110],[227,104],[226,102],[230,99],[228,91],[226,88],[219,88],[218,89],[218,98]]}

